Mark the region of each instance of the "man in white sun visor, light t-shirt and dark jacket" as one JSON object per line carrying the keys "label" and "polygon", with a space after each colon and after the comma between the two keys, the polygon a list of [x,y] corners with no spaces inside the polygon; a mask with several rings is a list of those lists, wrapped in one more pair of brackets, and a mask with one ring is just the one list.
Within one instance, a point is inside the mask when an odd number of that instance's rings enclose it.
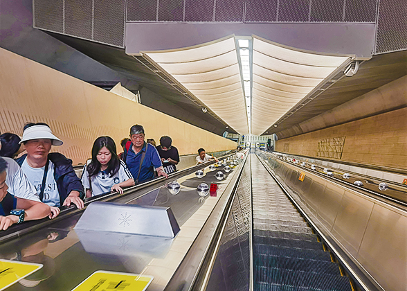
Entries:
{"label": "man in white sun visor, light t-shirt and dark jacket", "polygon": [[35,186],[39,199],[55,207],[75,204],[78,209],[84,206],[81,197],[84,189],[76,176],[71,159],[58,152],[50,153],[52,145],[62,145],[46,123],[28,123],[24,126],[20,143],[26,146],[27,154],[17,159],[17,164]]}

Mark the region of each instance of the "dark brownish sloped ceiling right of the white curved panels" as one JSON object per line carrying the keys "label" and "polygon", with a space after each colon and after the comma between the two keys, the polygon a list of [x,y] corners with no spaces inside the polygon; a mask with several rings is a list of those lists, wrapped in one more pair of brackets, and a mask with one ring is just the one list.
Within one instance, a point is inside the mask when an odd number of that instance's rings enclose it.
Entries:
{"label": "dark brownish sloped ceiling right of the white curved panels", "polygon": [[[354,76],[346,77],[342,73],[342,77],[331,87],[320,91],[307,105],[286,116],[277,127],[269,127],[264,134],[275,133],[280,139],[303,134],[307,131],[302,130],[301,123],[406,75],[407,51],[374,55],[361,63]],[[380,107],[377,108],[377,112],[380,110]]]}

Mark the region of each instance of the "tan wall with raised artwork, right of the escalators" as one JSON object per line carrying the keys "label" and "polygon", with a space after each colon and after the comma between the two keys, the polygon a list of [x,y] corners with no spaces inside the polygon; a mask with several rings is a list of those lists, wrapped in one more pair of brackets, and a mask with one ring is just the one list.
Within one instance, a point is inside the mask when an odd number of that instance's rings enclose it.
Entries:
{"label": "tan wall with raised artwork, right of the escalators", "polygon": [[280,139],[275,150],[407,169],[407,107]]}

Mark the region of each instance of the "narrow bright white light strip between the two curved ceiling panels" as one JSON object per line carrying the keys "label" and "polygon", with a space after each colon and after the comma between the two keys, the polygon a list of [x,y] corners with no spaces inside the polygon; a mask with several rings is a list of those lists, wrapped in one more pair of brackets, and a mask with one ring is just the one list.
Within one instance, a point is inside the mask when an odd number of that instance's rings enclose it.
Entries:
{"label": "narrow bright white light strip between the two curved ceiling panels", "polygon": [[251,73],[250,73],[250,49],[248,39],[238,39],[239,55],[242,65],[244,96],[246,97],[246,111],[248,133],[251,134]]}

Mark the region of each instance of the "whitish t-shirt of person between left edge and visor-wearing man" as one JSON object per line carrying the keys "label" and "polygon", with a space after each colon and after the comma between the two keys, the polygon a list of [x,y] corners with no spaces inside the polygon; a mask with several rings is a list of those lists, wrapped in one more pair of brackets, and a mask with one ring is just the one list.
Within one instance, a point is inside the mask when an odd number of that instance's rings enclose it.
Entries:
{"label": "whitish t-shirt of person between left edge and visor-wearing man", "polygon": [[8,157],[3,157],[3,159],[7,163],[6,184],[8,185],[8,193],[14,195],[15,197],[41,202],[37,195],[37,191],[35,191],[33,185],[30,184],[26,175],[24,175],[23,170],[21,170],[15,160]]}

